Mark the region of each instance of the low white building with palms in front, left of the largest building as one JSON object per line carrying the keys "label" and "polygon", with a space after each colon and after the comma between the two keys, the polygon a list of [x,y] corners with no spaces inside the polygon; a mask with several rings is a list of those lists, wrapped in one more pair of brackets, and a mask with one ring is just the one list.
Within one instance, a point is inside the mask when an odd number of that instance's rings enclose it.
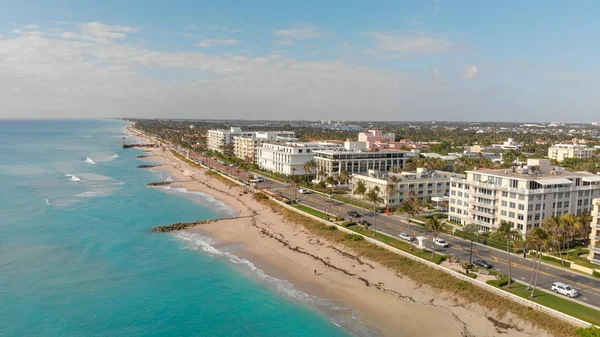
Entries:
{"label": "low white building with palms in front, left of the largest building", "polygon": [[[370,191],[377,186],[381,191],[383,204],[397,206],[409,197],[426,201],[428,198],[448,196],[450,193],[450,178],[453,177],[461,179],[465,176],[445,171],[429,171],[425,168],[417,168],[414,172],[389,174],[371,170],[367,175],[352,175],[350,187],[354,189],[359,182],[363,182],[367,191]],[[388,188],[390,185],[394,187],[393,190]]]}

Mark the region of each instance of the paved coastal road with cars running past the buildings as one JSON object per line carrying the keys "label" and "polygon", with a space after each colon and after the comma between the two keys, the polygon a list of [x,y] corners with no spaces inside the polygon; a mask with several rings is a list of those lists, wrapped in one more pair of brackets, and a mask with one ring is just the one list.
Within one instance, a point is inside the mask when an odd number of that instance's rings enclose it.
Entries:
{"label": "paved coastal road with cars running past the buildings", "polygon": [[[272,191],[280,192],[283,196],[292,199],[294,197],[293,188],[274,181],[267,181],[260,185],[261,188],[267,188]],[[350,210],[358,211],[363,214],[365,220],[371,223],[372,228],[377,231],[397,237],[400,233],[410,233],[415,236],[426,236],[431,244],[432,236],[425,233],[423,226],[418,224],[409,224],[404,215],[385,215],[365,211],[360,207],[339,202],[327,198],[320,194],[295,194],[300,199],[300,204],[305,204],[321,211],[327,211],[331,214],[348,218],[347,212]],[[469,260],[470,241],[457,238],[452,235],[440,234],[450,246],[448,248],[436,247],[436,251],[453,255],[461,260]],[[508,260],[506,252],[491,248],[486,245],[473,243],[473,260],[482,259],[490,262],[493,269],[501,273],[508,274]],[[523,258],[523,255],[511,254],[511,266],[513,279],[520,282],[529,283],[533,271],[533,261],[530,258]],[[579,292],[579,296],[574,300],[579,301],[600,309],[600,279],[586,277],[577,272],[571,272],[566,269],[542,264],[538,279],[538,287],[549,290],[553,282],[567,283]]]}

